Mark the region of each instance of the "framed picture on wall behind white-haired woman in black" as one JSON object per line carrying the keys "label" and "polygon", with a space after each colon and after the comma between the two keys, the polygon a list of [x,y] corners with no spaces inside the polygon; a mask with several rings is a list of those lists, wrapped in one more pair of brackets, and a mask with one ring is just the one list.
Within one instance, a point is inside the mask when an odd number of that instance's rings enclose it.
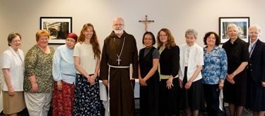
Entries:
{"label": "framed picture on wall behind white-haired woman in black", "polygon": [[227,27],[230,24],[235,24],[238,27],[238,37],[240,39],[249,42],[249,17],[220,17],[219,18],[219,36],[220,44],[229,40],[228,34],[226,34]]}

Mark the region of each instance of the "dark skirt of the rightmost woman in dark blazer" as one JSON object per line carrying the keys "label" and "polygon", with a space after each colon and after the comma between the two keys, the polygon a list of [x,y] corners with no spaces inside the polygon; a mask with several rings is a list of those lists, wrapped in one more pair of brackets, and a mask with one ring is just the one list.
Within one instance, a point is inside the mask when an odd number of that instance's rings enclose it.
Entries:
{"label": "dark skirt of the rightmost woman in dark blazer", "polygon": [[261,86],[261,82],[254,82],[249,75],[246,108],[253,111],[265,111],[265,87]]}

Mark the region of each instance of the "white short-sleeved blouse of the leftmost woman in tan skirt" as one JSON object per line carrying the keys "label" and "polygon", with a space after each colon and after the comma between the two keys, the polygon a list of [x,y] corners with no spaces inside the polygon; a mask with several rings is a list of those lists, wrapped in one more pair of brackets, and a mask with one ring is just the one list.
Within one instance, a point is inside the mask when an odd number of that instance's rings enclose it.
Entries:
{"label": "white short-sleeved blouse of the leftmost woman in tan skirt", "polygon": [[14,51],[11,46],[4,51],[1,55],[1,89],[4,91],[8,91],[8,86],[4,80],[3,68],[9,69],[9,75],[11,78],[11,84],[13,86],[14,91],[23,91],[23,82],[24,82],[24,53],[22,50],[18,49],[18,53],[22,61],[20,60],[16,51]]}

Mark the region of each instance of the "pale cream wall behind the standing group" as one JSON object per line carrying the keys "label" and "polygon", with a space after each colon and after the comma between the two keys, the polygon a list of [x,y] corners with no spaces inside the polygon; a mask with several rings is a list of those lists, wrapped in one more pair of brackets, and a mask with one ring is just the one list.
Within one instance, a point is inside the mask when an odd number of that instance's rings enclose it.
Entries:
{"label": "pale cream wall behind the standing group", "polygon": [[204,46],[204,34],[218,32],[219,17],[247,16],[250,25],[258,24],[265,30],[264,5],[264,0],[0,0],[0,53],[8,48],[6,39],[10,32],[22,35],[21,49],[26,53],[36,43],[40,17],[72,17],[76,34],[83,24],[90,22],[102,47],[105,37],[112,31],[112,19],[120,16],[124,18],[126,32],[136,37],[138,49],[141,49],[145,26],[139,20],[148,15],[149,20],[155,20],[148,31],[155,35],[166,27],[180,45],[185,43],[184,32],[193,28],[199,32],[197,44]]}

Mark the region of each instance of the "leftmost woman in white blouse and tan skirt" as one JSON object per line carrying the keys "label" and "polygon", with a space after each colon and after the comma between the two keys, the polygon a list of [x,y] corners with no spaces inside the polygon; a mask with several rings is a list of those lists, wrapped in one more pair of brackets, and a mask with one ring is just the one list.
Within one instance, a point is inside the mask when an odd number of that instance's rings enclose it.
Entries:
{"label": "leftmost woman in white blouse and tan skirt", "polygon": [[23,96],[24,53],[20,50],[21,36],[11,33],[7,38],[9,48],[1,55],[1,90],[4,114],[17,115],[25,108]]}

